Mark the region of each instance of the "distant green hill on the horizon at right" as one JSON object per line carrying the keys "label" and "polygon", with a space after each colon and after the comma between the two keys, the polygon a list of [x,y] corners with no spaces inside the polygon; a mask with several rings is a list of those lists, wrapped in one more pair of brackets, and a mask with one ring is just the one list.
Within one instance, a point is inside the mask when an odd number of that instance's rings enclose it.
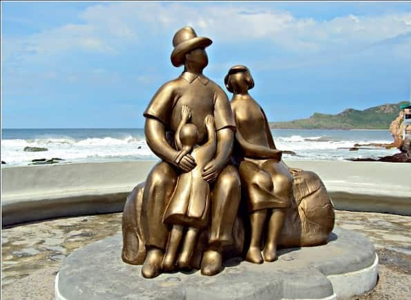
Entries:
{"label": "distant green hill on the horizon at right", "polygon": [[314,113],[308,119],[269,122],[269,126],[278,129],[389,129],[399,115],[399,106],[405,103],[408,102],[383,104],[363,111],[345,109],[336,115]]}

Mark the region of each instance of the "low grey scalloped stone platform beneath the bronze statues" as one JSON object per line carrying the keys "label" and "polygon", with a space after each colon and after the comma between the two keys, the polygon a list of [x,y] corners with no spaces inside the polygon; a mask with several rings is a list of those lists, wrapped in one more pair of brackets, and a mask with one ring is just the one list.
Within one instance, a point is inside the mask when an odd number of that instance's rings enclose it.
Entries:
{"label": "low grey scalloped stone platform beneath the bronze statues", "polygon": [[338,227],[327,245],[279,250],[278,261],[261,265],[231,259],[216,276],[196,270],[144,279],[121,250],[117,234],[70,254],[56,276],[56,299],[334,300],[371,290],[378,271],[368,238]]}

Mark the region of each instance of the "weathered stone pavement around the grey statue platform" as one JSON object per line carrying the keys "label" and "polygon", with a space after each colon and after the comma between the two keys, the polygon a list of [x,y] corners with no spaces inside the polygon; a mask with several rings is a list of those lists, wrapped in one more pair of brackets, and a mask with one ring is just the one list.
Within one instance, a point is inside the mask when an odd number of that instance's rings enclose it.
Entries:
{"label": "weathered stone pavement around the grey statue platform", "polygon": [[[2,299],[53,299],[64,258],[121,232],[122,214],[79,216],[2,229]],[[411,299],[411,216],[336,211],[336,225],[368,236],[379,254],[379,283],[352,299]]]}

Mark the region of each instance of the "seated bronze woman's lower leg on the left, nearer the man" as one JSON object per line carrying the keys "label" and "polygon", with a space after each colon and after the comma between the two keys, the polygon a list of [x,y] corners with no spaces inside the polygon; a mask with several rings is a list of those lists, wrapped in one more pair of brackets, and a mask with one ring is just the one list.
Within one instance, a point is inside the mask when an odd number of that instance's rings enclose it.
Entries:
{"label": "seated bronze woman's lower leg on the left, nearer the man", "polygon": [[267,209],[260,209],[250,214],[251,241],[249,250],[245,256],[245,260],[250,261],[251,263],[262,263],[261,238],[265,218],[267,218]]}

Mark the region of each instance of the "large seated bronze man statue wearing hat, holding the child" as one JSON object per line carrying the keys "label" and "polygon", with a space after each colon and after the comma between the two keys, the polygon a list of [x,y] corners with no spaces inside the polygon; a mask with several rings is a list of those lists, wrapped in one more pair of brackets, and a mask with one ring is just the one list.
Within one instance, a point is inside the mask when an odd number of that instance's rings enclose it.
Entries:
{"label": "large seated bronze man statue wearing hat, holding the child", "polygon": [[164,209],[175,189],[178,176],[195,168],[189,150],[177,150],[173,135],[181,121],[182,106],[191,109],[191,123],[198,129],[196,144],[207,142],[204,120],[213,115],[217,148],[216,155],[202,170],[202,178],[213,182],[209,245],[202,256],[201,272],[213,275],[222,267],[222,250],[231,244],[231,232],[240,202],[240,178],[232,165],[231,156],[236,125],[227,95],[222,88],[202,74],[208,64],[205,48],[211,39],[198,37],[193,28],[182,28],[173,37],[171,62],[184,65],[177,79],[164,84],[155,93],[144,112],[147,144],[162,159],[151,170],[144,187],[142,225],[146,237],[146,259],[143,276],[160,274],[169,227],[163,223]]}

